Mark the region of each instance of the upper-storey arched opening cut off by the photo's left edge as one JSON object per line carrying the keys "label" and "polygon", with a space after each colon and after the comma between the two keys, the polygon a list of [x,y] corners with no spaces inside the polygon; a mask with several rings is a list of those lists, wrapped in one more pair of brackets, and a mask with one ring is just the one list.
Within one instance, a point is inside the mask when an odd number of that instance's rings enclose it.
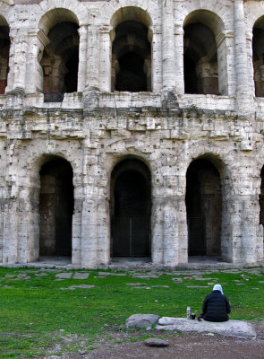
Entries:
{"label": "upper-storey arched opening cut off by the photo's left edge", "polygon": [[0,16],[0,94],[4,94],[7,85],[9,50],[9,26],[5,19]]}

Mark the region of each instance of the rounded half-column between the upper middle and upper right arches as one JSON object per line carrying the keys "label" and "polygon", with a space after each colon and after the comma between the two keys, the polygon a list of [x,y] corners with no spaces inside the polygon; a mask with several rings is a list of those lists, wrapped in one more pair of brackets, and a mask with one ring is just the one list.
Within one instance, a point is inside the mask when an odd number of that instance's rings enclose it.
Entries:
{"label": "rounded half-column between the upper middle and upper right arches", "polygon": [[162,90],[175,88],[175,24],[174,2],[166,0],[162,7]]}

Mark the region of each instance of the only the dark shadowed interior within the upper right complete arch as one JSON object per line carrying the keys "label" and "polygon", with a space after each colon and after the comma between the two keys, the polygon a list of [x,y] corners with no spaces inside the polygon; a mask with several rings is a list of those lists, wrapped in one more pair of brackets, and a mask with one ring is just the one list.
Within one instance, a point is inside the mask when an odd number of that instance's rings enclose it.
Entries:
{"label": "only the dark shadowed interior within the upper right complete arch", "polygon": [[185,93],[218,94],[217,42],[200,22],[184,27]]}

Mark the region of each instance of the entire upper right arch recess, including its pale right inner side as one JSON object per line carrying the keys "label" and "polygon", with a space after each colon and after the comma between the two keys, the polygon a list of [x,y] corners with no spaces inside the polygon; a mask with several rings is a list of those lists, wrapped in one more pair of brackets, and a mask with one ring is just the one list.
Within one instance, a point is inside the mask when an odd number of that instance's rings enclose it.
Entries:
{"label": "entire upper right arch recess, including its pale right inner side", "polygon": [[186,93],[227,93],[226,37],[222,19],[209,10],[189,13],[183,22]]}

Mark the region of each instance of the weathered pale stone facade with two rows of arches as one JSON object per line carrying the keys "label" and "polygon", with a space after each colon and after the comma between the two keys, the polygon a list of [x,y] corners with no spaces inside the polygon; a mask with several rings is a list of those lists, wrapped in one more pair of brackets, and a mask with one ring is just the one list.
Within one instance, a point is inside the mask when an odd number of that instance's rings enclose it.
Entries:
{"label": "weathered pale stone facade with two rows of arches", "polygon": [[[151,174],[151,261],[188,263],[186,172],[195,159],[219,173],[221,257],[263,260],[260,171],[264,99],[254,97],[255,0],[0,1],[10,27],[9,74],[0,96],[0,262],[39,257],[39,171],[50,158],[72,166],[72,264],[110,256],[110,182],[135,158]],[[111,92],[112,42],[123,21],[142,22],[151,43],[151,92]],[[79,25],[78,92],[43,100],[40,61],[57,22]],[[184,93],[183,28],[203,22],[217,43],[219,93]]]}

